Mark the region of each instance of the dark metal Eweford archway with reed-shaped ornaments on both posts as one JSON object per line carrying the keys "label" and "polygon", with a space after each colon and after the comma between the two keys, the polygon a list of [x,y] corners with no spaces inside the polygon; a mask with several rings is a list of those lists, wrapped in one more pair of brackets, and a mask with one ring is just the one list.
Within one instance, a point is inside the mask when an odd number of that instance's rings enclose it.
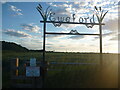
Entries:
{"label": "dark metal Eweford archway with reed-shaped ornaments on both posts", "polygon": [[[44,11],[42,6],[39,4],[36,9],[39,11],[40,15],[42,16],[42,21],[43,23],[43,67],[42,69],[44,70],[44,67],[46,66],[46,61],[45,61],[45,40],[46,40],[46,34],[58,34],[58,35],[97,35],[100,38],[100,64],[102,65],[102,25],[105,25],[102,23],[105,15],[108,13],[108,11],[104,12],[101,7],[97,8],[96,6],[94,7],[95,15],[93,15],[91,18],[79,18],[78,22],[75,22],[75,14],[72,15],[72,17],[57,17],[55,18],[55,13],[52,12],[52,9],[50,9],[50,6]],[[95,23],[94,17],[97,17],[98,23]],[[49,20],[47,20],[49,17]],[[82,24],[85,25],[87,28],[92,28],[94,25],[99,26],[99,34],[86,34],[86,33],[79,33],[77,30],[71,30],[69,33],[57,33],[57,32],[46,32],[46,24],[51,23],[55,27],[60,27],[62,24]],[[42,75],[42,82],[43,85],[42,87],[44,88],[44,79],[45,79],[45,74],[43,73]]]}

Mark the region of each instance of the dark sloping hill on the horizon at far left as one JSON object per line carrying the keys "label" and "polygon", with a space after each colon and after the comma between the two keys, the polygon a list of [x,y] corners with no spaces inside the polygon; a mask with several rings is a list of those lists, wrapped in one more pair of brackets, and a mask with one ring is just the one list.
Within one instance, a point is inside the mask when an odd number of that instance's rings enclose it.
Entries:
{"label": "dark sloping hill on the horizon at far left", "polygon": [[27,52],[29,51],[27,48],[22,47],[21,45],[18,45],[13,42],[5,42],[5,41],[0,41],[2,42],[2,50],[4,51],[16,51],[16,52]]}

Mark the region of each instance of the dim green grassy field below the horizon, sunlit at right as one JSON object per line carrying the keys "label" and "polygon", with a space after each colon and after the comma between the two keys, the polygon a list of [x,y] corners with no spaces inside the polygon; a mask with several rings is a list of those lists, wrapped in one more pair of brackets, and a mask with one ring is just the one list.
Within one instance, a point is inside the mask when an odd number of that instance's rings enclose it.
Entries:
{"label": "dim green grassy field below the horizon, sunlit at right", "polygon": [[[42,53],[39,52],[3,52],[3,88],[10,87],[10,61],[15,58],[29,60],[31,57],[42,61]],[[45,76],[46,88],[118,87],[118,54],[103,54],[102,67],[98,53],[46,53],[46,61],[96,63],[93,65],[50,64]]]}

